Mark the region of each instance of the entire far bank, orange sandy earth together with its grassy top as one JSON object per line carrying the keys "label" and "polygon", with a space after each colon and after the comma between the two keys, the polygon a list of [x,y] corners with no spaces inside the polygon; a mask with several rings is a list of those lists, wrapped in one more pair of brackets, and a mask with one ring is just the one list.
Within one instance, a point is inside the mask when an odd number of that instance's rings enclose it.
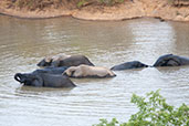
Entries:
{"label": "entire far bank, orange sandy earth together with its grassy top", "polygon": [[19,18],[72,15],[85,20],[140,17],[189,21],[189,0],[1,0],[0,13]]}

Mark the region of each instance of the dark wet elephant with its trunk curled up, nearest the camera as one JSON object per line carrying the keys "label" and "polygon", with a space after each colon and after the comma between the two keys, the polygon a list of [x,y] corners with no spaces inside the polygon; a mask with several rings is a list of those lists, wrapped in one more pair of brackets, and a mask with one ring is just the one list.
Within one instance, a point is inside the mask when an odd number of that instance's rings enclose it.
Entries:
{"label": "dark wet elephant with its trunk curled up, nearest the camera", "polygon": [[67,77],[49,73],[17,73],[14,80],[23,85],[36,87],[75,87],[76,85]]}

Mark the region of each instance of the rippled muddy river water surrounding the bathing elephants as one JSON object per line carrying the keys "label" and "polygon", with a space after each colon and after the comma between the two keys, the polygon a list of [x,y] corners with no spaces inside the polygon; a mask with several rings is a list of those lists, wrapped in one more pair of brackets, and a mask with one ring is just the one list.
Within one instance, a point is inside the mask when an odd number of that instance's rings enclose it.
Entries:
{"label": "rippled muddy river water surrounding the bathing elephants", "polygon": [[73,80],[77,87],[24,87],[17,72],[31,72],[49,54],[84,54],[98,65],[138,60],[151,65],[167,53],[189,56],[189,23],[137,19],[91,22],[72,18],[21,20],[0,15],[0,125],[91,126],[98,118],[127,120],[133,93],[161,88],[171,105],[189,105],[189,66],[115,72],[114,78]]}

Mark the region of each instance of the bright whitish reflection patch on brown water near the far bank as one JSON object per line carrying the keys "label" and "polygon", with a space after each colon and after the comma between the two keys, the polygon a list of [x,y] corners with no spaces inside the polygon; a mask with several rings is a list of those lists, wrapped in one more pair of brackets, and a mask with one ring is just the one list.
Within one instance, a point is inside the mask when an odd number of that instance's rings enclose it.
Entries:
{"label": "bright whitish reflection patch on brown water near the far bank", "polygon": [[132,55],[134,59],[143,60],[145,56],[148,59],[144,59],[144,62],[154,63],[151,59],[155,55],[174,52],[175,31],[169,23],[147,20],[141,23],[134,22],[129,27],[135,34],[135,43],[132,46],[132,50],[136,50],[135,55]]}

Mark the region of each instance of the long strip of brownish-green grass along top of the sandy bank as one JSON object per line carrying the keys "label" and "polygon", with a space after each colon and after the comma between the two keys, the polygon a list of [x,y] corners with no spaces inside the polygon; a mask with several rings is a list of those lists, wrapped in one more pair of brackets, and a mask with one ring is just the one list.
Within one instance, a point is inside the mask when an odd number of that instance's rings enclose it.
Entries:
{"label": "long strip of brownish-green grass along top of the sandy bank", "polygon": [[[124,0],[4,0],[9,8],[28,10],[43,10],[44,8],[59,8],[61,6],[81,8],[88,4],[113,6]],[[129,1],[129,0],[128,0]]]}

